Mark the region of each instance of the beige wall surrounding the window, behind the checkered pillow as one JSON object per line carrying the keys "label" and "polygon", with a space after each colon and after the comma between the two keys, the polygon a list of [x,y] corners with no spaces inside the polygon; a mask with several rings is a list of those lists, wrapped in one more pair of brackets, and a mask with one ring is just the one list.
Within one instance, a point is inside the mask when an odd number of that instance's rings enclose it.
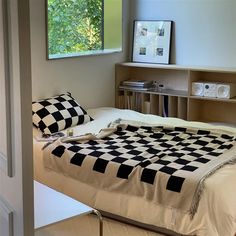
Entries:
{"label": "beige wall surrounding the window, behind the checkered pillow", "polygon": [[123,1],[123,52],[46,60],[45,0],[30,0],[33,100],[70,91],[85,108],[114,106],[114,64],[127,60],[129,1]]}

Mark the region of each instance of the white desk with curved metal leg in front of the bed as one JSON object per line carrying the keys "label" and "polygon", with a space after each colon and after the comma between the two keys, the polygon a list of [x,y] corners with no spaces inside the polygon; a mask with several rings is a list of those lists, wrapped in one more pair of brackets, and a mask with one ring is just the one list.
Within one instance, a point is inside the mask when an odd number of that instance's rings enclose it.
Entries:
{"label": "white desk with curved metal leg in front of the bed", "polygon": [[34,181],[34,229],[58,223],[76,216],[95,213],[99,219],[99,236],[103,235],[99,211],[75,199]]}

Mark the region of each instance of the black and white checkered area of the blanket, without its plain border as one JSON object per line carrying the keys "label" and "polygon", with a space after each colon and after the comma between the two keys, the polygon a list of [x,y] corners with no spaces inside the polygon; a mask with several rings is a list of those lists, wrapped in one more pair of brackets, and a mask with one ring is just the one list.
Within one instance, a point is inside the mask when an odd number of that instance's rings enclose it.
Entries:
{"label": "black and white checkered area of the blanket, without its plain border", "polygon": [[235,140],[205,130],[127,125],[101,140],[63,143],[52,154],[63,158],[69,153],[71,164],[89,165],[104,174],[115,169],[114,175],[122,179],[140,168],[138,178],[151,185],[165,175],[166,189],[181,192],[187,174],[232,148]]}

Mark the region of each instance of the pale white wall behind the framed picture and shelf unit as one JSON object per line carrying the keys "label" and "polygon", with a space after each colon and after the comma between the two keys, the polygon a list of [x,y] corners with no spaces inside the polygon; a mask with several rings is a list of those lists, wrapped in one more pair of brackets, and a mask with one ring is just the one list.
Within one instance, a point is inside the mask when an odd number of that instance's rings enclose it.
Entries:
{"label": "pale white wall behind the framed picture and shelf unit", "polygon": [[171,63],[236,67],[235,0],[132,0],[133,19],[172,20]]}

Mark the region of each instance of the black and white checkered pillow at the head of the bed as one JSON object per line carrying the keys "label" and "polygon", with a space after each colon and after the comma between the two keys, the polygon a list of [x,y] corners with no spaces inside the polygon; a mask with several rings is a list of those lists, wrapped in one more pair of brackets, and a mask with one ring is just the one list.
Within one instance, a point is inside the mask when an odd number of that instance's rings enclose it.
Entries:
{"label": "black and white checkered pillow at the head of the bed", "polygon": [[33,124],[44,134],[93,120],[69,93],[33,102],[32,111]]}

